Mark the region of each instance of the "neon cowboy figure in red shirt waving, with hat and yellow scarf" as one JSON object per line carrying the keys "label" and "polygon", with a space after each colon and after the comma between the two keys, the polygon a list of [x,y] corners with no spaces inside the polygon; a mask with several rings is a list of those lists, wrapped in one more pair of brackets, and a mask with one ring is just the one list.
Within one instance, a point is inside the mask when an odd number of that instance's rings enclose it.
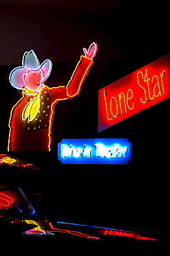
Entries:
{"label": "neon cowboy figure in red shirt waving, with hat and yellow scarf", "polygon": [[83,48],[84,56],[81,56],[67,86],[52,88],[45,85],[52,62],[45,60],[40,64],[34,51],[24,53],[22,66],[10,73],[10,83],[22,90],[22,98],[10,113],[8,151],[51,150],[54,106],[60,100],[72,99],[80,93],[97,50],[95,43],[88,50]]}

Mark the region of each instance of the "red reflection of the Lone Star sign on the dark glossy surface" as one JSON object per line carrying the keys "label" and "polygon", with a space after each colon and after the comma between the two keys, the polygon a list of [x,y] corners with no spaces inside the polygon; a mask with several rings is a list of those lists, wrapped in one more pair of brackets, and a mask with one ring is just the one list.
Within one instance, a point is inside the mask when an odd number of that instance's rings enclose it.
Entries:
{"label": "red reflection of the Lone Star sign on the dark glossy surface", "polygon": [[151,241],[158,241],[158,239],[154,239],[151,237],[142,237],[134,232],[127,232],[127,231],[115,231],[115,230],[98,230],[100,235],[115,235],[118,237],[131,237],[134,239],[141,239],[141,240],[151,240]]}

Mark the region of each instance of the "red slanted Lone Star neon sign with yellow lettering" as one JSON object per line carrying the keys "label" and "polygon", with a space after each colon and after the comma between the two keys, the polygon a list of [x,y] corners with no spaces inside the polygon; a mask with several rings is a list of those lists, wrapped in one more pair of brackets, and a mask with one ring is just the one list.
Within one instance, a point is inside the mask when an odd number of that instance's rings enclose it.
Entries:
{"label": "red slanted Lone Star neon sign with yellow lettering", "polygon": [[98,131],[170,97],[170,53],[98,92]]}

